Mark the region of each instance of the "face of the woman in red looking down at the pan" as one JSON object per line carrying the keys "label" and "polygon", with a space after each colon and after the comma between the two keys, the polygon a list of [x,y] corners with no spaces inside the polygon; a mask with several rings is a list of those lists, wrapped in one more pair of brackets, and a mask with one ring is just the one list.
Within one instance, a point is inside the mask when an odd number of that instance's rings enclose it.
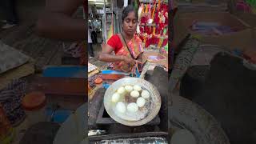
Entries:
{"label": "face of the woman in red looking down at the pan", "polygon": [[123,21],[123,31],[128,35],[134,35],[137,27],[137,18],[134,11],[130,12]]}

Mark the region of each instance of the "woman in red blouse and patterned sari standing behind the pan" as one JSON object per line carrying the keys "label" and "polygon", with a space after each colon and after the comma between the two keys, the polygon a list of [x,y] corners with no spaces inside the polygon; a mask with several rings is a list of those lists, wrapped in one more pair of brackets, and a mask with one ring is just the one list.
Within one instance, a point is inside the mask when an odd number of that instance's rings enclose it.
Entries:
{"label": "woman in red blouse and patterned sari standing behind the pan", "polygon": [[[114,34],[102,48],[99,59],[112,62],[114,70],[133,72],[142,62],[142,40],[135,35],[138,26],[138,13],[133,6],[122,11],[122,33]],[[112,52],[114,51],[114,55]]]}

